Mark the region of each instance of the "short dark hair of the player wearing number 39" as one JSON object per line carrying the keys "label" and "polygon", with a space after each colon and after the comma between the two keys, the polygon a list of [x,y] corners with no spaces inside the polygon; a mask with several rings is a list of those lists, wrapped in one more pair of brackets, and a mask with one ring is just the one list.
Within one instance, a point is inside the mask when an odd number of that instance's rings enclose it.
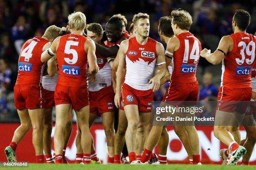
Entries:
{"label": "short dark hair of the player wearing number 39", "polygon": [[251,16],[246,10],[237,10],[233,20],[236,21],[238,28],[245,31],[250,24]]}

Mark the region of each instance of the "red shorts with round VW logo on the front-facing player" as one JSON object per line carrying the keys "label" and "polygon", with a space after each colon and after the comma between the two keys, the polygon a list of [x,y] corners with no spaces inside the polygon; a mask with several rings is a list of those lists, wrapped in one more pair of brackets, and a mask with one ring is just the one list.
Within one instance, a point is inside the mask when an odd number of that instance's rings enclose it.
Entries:
{"label": "red shorts with round VW logo on the front-facing player", "polygon": [[133,87],[123,83],[123,104],[138,105],[140,112],[151,112],[153,105],[154,92],[149,90],[136,90]]}

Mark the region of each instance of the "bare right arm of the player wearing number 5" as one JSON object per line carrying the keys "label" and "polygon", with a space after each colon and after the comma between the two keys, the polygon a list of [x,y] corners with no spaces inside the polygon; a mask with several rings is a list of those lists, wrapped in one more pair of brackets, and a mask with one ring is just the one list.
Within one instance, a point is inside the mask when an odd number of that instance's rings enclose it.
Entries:
{"label": "bare right arm of the player wearing number 5", "polygon": [[92,40],[87,40],[84,43],[84,49],[87,51],[87,60],[90,67],[90,74],[95,75],[99,70],[97,65],[97,57],[95,55],[95,42]]}

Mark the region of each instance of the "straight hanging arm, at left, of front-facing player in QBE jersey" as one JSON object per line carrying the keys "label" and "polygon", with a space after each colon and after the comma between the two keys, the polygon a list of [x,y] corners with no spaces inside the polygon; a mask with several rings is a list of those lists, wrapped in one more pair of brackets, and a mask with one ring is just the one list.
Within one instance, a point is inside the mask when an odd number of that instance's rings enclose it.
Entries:
{"label": "straight hanging arm, at left, of front-facing player in QBE jersey", "polygon": [[124,79],[124,70],[125,67],[125,52],[128,50],[128,43],[129,40],[124,40],[120,44],[120,53],[119,53],[119,62],[118,62],[118,69],[117,69],[117,77],[116,77],[116,93],[115,93],[115,105],[116,107],[120,106],[120,98],[121,98],[121,86]]}

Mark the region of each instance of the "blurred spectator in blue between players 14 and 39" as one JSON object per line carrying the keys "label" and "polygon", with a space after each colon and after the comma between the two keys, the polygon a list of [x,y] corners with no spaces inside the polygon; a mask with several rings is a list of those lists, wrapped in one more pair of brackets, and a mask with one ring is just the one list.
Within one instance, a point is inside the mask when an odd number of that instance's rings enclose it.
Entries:
{"label": "blurred spectator in blue between players 14 and 39", "polygon": [[202,83],[199,91],[199,100],[205,100],[206,97],[218,96],[218,89],[212,84],[212,74],[210,72],[206,72],[203,75]]}

